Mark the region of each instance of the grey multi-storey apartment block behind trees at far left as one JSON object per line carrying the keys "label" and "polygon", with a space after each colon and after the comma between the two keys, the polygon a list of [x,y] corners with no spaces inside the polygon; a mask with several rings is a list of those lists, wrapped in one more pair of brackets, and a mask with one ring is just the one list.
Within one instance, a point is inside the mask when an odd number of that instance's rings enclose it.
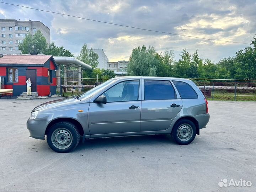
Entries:
{"label": "grey multi-storey apartment block behind trees at far left", "polygon": [[0,54],[21,54],[18,45],[28,34],[34,35],[40,30],[50,43],[50,29],[40,21],[17,21],[15,19],[0,19]]}

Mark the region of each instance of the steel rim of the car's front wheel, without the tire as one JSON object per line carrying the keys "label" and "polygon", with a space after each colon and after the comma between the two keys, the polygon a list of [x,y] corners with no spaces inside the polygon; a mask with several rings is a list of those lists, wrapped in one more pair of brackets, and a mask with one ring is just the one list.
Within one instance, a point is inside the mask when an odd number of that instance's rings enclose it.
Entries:
{"label": "steel rim of the car's front wheel, without the tire", "polygon": [[58,128],[52,134],[52,143],[58,149],[66,149],[72,143],[73,137],[68,129]]}

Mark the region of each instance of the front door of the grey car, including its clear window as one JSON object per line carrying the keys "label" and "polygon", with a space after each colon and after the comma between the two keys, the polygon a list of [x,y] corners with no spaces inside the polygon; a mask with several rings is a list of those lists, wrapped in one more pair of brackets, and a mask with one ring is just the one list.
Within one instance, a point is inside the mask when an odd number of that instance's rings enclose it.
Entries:
{"label": "front door of the grey car, including its clear window", "polygon": [[106,104],[90,101],[91,135],[140,131],[140,80],[119,82],[105,91]]}

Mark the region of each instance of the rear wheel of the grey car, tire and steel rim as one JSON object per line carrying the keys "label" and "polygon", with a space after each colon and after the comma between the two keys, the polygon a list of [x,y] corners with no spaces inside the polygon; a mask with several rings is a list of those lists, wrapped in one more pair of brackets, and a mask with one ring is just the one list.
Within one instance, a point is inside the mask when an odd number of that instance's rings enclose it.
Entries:
{"label": "rear wheel of the grey car, tire and steel rim", "polygon": [[190,144],[196,137],[196,126],[188,119],[181,119],[175,124],[171,135],[177,144]]}

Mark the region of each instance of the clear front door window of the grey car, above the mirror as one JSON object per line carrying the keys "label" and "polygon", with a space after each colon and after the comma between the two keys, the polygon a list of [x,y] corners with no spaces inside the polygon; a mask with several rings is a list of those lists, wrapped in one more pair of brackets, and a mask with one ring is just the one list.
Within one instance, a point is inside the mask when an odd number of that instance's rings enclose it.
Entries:
{"label": "clear front door window of the grey car, above the mirror", "polygon": [[107,97],[107,103],[137,101],[139,97],[139,80],[119,82],[102,95]]}

